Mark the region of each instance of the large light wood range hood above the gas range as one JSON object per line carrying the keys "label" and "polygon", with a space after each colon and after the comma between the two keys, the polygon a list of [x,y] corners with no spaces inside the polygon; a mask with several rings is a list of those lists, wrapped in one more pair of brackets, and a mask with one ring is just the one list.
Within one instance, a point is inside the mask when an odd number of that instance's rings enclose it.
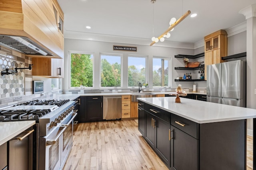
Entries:
{"label": "large light wood range hood above the gas range", "polygon": [[57,0],[0,0],[0,38],[26,37],[48,53],[24,53],[28,57],[64,58],[64,36],[58,30],[53,4],[63,17]]}

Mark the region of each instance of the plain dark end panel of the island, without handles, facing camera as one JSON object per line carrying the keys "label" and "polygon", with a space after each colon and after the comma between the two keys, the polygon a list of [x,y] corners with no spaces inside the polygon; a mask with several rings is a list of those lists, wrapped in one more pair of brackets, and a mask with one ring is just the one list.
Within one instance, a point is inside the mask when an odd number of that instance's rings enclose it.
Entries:
{"label": "plain dark end panel of the island, without handles, facing camera", "polygon": [[246,119],[200,124],[200,170],[246,170]]}

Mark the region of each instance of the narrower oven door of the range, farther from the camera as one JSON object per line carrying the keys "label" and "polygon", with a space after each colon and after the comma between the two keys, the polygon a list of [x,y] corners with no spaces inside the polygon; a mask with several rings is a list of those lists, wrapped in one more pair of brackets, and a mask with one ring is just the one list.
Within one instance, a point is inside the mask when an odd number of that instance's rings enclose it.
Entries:
{"label": "narrower oven door of the range, farther from the camera", "polygon": [[61,167],[64,167],[64,164],[68,158],[68,154],[73,145],[73,123],[74,118],[77,113],[71,113],[62,121],[62,126],[65,126],[67,129],[64,131],[62,136],[62,147],[61,147]]}

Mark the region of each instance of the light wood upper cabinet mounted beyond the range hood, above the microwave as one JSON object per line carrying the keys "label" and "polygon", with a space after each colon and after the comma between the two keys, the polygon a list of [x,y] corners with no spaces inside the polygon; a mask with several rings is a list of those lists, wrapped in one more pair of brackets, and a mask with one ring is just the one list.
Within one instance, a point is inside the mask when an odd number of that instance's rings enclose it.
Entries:
{"label": "light wood upper cabinet mounted beyond the range hood, above the microwave", "polygon": [[32,58],[32,75],[64,78],[64,59]]}

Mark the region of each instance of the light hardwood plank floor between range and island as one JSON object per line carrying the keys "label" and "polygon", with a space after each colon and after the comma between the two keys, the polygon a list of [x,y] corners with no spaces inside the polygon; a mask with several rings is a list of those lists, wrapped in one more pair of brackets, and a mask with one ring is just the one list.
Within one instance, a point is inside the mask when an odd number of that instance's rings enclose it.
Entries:
{"label": "light hardwood plank floor between range and island", "polygon": [[[168,170],[138,131],[138,120],[80,123],[64,170]],[[252,170],[252,137],[247,137]]]}

